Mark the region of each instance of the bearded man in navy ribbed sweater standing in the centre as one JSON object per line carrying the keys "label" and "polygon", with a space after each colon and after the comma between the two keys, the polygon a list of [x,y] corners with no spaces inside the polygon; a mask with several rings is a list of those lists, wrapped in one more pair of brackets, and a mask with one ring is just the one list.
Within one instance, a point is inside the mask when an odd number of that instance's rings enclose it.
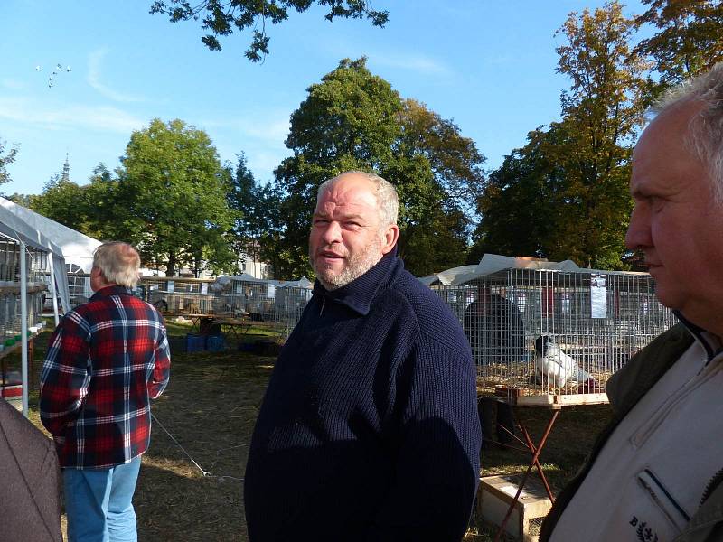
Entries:
{"label": "bearded man in navy ribbed sweater standing in the centre", "polygon": [[479,473],[465,333],[396,257],[380,177],[319,188],[314,295],[281,350],[249,450],[251,542],[458,542]]}

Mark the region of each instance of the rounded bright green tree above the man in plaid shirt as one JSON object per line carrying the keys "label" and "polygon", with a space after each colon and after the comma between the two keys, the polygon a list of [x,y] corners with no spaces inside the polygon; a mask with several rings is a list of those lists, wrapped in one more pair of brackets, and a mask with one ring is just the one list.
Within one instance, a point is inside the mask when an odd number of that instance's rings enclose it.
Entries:
{"label": "rounded bright green tree above the man in plaid shirt", "polygon": [[116,233],[136,244],[144,264],[173,276],[185,264],[200,271],[233,267],[228,233],[235,214],[211,139],[181,120],[155,118],[134,132],[117,169]]}

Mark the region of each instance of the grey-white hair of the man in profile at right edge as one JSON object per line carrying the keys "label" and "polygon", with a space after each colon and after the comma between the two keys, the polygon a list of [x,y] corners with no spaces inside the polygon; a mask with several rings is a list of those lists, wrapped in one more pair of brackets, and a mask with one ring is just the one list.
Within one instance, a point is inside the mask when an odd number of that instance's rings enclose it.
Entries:
{"label": "grey-white hair of the man in profile at right edge", "polygon": [[708,169],[712,195],[723,204],[723,62],[669,90],[651,111],[660,114],[683,102],[701,105],[690,117],[685,143]]}

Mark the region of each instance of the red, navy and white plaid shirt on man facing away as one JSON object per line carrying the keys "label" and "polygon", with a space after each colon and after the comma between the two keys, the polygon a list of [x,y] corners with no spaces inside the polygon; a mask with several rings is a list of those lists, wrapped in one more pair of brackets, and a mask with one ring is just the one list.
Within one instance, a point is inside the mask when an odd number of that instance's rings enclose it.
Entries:
{"label": "red, navy and white plaid shirt on man facing away", "polygon": [[110,467],[146,452],[151,398],[171,357],[163,317],[127,288],[107,286],[63,316],[42,367],[42,425],[63,467]]}

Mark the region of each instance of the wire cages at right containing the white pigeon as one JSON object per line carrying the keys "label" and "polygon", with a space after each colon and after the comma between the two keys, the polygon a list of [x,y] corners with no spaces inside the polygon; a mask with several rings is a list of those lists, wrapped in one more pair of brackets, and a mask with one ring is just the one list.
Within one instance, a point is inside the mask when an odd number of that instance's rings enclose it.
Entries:
{"label": "wire cages at right containing the white pigeon", "polygon": [[463,324],[481,391],[516,402],[604,402],[607,378],[674,323],[644,273],[511,268],[432,288]]}

